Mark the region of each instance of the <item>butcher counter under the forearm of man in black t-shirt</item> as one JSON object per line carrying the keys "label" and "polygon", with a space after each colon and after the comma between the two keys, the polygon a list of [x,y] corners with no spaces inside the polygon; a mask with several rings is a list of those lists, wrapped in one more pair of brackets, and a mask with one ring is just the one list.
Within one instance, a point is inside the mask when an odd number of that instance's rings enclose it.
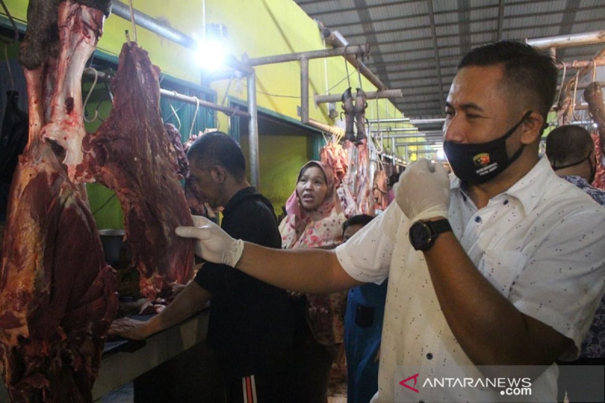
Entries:
{"label": "butcher counter under the forearm of man in black t-shirt", "polygon": [[[205,308],[188,320],[154,334],[145,341],[123,340],[106,343],[99,376],[93,387],[93,400],[100,401],[102,396],[131,381],[135,381],[136,391],[137,379],[139,383],[145,384],[153,378],[158,378],[153,373],[154,369],[159,367],[182,367],[181,363],[175,365],[171,362],[178,359],[182,361],[182,357],[188,353],[181,353],[186,350],[195,350],[196,353],[194,358],[188,358],[189,361],[203,362],[206,349],[203,347],[205,343],[201,342],[206,338],[207,329],[208,308]],[[147,379],[140,382],[140,379],[145,378]],[[145,385],[142,387],[145,388]],[[8,402],[7,391],[1,377],[0,402]]]}

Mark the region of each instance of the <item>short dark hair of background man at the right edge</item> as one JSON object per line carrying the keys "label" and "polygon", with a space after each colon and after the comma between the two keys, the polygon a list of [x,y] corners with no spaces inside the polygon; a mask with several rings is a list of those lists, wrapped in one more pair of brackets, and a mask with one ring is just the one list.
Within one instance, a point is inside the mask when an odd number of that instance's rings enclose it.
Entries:
{"label": "short dark hair of background man at the right edge", "polygon": [[551,166],[577,163],[594,149],[590,133],[577,124],[559,126],[546,137],[546,157]]}

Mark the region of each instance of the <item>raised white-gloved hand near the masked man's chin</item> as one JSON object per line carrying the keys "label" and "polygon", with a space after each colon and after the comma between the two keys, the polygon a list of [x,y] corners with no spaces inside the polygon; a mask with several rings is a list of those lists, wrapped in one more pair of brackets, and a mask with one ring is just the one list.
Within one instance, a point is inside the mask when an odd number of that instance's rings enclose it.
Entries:
{"label": "raised white-gloved hand near the masked man's chin", "polygon": [[393,192],[399,208],[411,222],[448,217],[450,178],[443,164],[420,158],[399,176]]}

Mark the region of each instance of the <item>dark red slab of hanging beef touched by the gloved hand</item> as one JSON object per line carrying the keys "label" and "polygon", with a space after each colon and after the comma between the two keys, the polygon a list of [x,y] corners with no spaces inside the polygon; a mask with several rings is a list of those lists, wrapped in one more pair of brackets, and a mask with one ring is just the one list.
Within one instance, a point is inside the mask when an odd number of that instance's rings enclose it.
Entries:
{"label": "dark red slab of hanging beef touched by the gloved hand", "polygon": [[112,83],[113,109],[96,134],[83,141],[76,176],[116,192],[140,291],[149,298],[170,294],[169,283],[192,276],[194,242],[174,235],[193,225],[178,182],[178,162],[160,117],[159,68],[134,42],[122,47]]}

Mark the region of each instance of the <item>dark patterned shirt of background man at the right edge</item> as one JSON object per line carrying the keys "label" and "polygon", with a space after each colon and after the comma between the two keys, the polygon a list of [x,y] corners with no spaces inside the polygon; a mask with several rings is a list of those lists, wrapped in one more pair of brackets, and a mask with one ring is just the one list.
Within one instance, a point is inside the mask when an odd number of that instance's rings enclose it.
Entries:
{"label": "dark patterned shirt of background man at the right edge", "polygon": [[[598,204],[605,207],[605,190],[591,186],[580,176],[561,176],[567,182],[571,182],[593,198]],[[594,184],[594,182],[593,182]],[[590,324],[588,334],[580,349],[581,358],[604,358],[605,357],[605,295],[595,312],[595,318]]]}

